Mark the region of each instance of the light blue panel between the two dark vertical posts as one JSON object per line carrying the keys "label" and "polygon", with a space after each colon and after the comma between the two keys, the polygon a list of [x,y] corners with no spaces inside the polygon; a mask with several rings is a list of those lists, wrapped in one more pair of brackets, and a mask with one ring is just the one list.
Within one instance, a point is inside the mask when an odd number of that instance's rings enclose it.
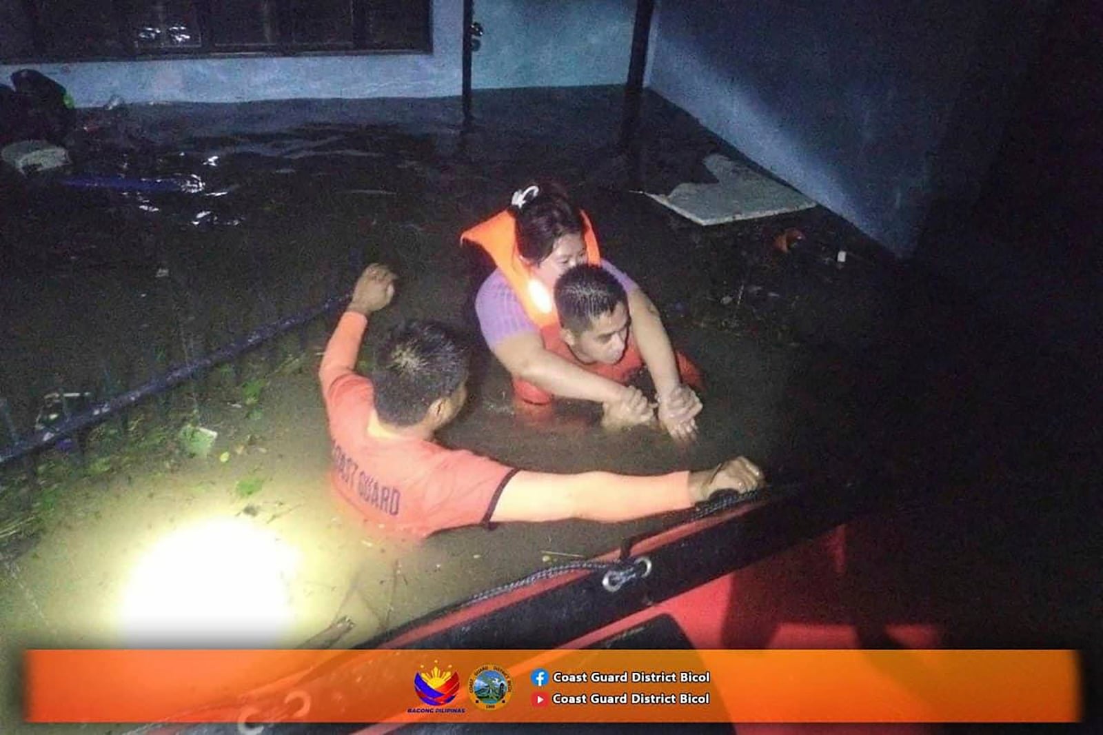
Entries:
{"label": "light blue panel between the two dark vertical posts", "polygon": [[635,0],[475,0],[482,47],[472,86],[574,87],[623,84]]}

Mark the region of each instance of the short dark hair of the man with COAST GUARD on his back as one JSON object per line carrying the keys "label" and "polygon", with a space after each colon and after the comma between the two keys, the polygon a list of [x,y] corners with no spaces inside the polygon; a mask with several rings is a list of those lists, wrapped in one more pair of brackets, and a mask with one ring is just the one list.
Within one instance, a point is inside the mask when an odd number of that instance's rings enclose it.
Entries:
{"label": "short dark hair of the man with COAST GUARD on his back", "polygon": [[467,347],[443,324],[411,320],[390,330],[371,370],[375,411],[397,426],[425,418],[437,398],[452,395],[468,377]]}

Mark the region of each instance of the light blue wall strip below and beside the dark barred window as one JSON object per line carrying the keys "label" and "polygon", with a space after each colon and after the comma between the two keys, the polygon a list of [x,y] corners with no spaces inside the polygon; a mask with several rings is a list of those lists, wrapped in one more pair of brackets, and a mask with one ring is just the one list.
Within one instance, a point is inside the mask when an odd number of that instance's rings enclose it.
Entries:
{"label": "light blue wall strip below and beside the dark barred window", "polygon": [[[186,58],[29,65],[64,85],[78,107],[128,103],[448,97],[460,94],[460,0],[433,0],[431,54]],[[0,39],[2,42],[2,39]],[[4,79],[24,65],[0,66]]]}

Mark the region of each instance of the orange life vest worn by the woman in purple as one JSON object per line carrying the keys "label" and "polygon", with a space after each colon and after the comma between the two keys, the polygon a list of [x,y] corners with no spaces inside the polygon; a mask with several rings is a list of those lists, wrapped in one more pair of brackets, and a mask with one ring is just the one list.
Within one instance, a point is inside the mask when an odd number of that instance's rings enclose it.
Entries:
{"label": "orange life vest worn by the woman in purple", "polygon": [[[601,264],[601,252],[598,249],[598,238],[593,234],[593,225],[586,212],[581,212],[586,243],[586,260],[591,265]],[[525,313],[537,327],[550,324],[558,327],[559,315],[556,312],[552,291],[538,278],[532,275],[528,266],[517,253],[516,219],[510,210],[502,210],[490,220],[480,222],[474,227],[460,235],[460,243],[470,242],[479,245],[494,260],[510,288],[517,296]]]}

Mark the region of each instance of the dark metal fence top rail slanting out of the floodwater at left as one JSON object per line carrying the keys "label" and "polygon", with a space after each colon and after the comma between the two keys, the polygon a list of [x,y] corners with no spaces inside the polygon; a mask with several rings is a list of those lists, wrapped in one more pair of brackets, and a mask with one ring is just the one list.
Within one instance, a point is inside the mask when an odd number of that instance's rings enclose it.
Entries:
{"label": "dark metal fence top rail slanting out of the floodwater at left", "polygon": [[26,457],[35,451],[46,449],[67,437],[83,432],[84,429],[92,428],[93,426],[126,411],[127,408],[130,408],[146,398],[162,394],[165,391],[184,383],[199,374],[205,373],[219,364],[239,358],[242,354],[269,340],[281,337],[296,328],[304,327],[311,321],[347,302],[351,296],[351,292],[343,294],[293,316],[269,322],[253,330],[248,334],[234,340],[229,344],[199,358],[197,360],[186,362],[179,368],[174,368],[163,374],[152,377],[138,387],[119,393],[110,398],[100,401],[99,403],[95,403],[81,413],[72,416],[65,416],[64,419],[49,428],[40,429],[25,436],[19,433],[14,422],[11,419],[10,414],[7,411],[7,403],[3,402],[3,398],[0,398],[0,414],[2,414],[4,428],[11,436],[10,443],[0,448],[0,466],[7,465],[8,462],[21,457]]}

